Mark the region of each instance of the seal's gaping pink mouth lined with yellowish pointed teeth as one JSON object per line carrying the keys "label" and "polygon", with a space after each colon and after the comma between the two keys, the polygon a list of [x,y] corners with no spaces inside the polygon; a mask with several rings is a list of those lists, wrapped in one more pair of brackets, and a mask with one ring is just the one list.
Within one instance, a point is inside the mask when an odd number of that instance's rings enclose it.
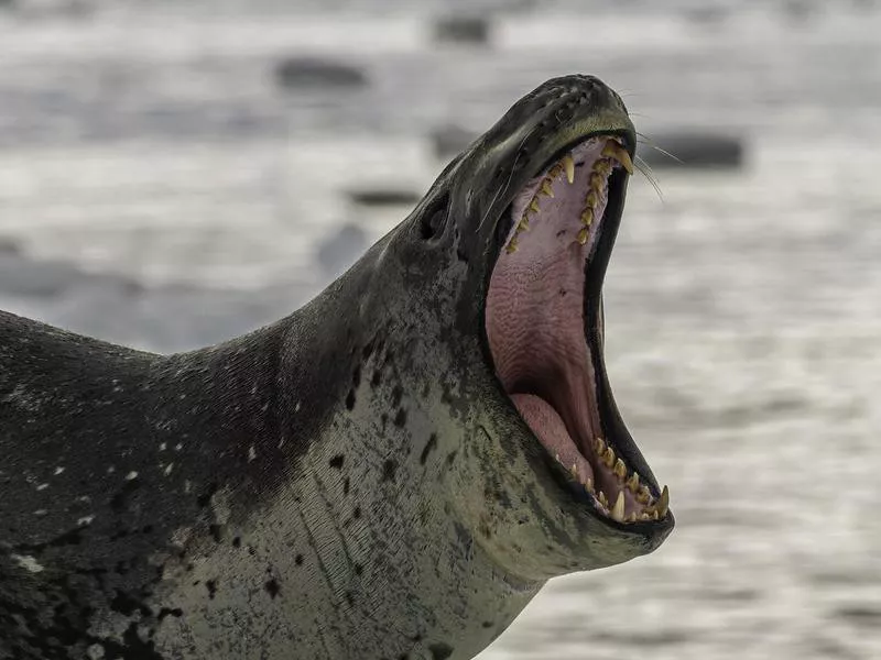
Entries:
{"label": "seal's gaping pink mouth lined with yellowish pointed teeth", "polygon": [[486,308],[496,373],[520,415],[579,495],[624,524],[661,520],[668,505],[666,486],[659,494],[632,468],[644,461],[629,436],[611,437],[622,422],[602,363],[600,286],[632,168],[624,136],[592,135],[530,180]]}

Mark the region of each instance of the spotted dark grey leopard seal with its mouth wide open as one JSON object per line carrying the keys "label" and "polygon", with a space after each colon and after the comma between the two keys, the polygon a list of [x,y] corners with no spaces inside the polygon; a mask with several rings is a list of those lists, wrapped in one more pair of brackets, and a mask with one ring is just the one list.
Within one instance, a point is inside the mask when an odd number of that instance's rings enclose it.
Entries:
{"label": "spotted dark grey leopard seal with its mouth wide open", "polygon": [[0,658],[472,658],[674,519],[601,285],[635,133],[548,80],[291,316],[157,355],[0,314]]}

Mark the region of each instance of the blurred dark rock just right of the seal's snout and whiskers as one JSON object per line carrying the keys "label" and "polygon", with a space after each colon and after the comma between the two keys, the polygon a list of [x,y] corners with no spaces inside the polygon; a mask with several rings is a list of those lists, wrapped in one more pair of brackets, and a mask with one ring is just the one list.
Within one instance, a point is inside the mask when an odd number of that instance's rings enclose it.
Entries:
{"label": "blurred dark rock just right of the seal's snout and whiskers", "polygon": [[[653,148],[668,152],[670,155]],[[743,142],[740,138],[719,133],[677,132],[651,135],[650,144],[640,144],[639,156],[653,169],[737,168],[743,165]]]}

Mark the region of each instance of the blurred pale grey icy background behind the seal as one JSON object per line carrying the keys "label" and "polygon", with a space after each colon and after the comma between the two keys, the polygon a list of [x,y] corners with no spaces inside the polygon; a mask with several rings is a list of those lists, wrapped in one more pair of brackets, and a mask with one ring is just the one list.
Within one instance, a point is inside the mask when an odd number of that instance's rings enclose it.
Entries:
{"label": "blurred pale grey icy background behind the seal", "polygon": [[678,527],[481,660],[881,657],[881,2],[0,0],[0,308],[163,352],[285,316],[575,72],[661,191],[607,362]]}

